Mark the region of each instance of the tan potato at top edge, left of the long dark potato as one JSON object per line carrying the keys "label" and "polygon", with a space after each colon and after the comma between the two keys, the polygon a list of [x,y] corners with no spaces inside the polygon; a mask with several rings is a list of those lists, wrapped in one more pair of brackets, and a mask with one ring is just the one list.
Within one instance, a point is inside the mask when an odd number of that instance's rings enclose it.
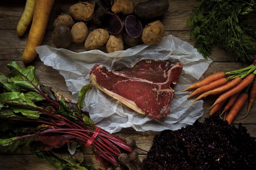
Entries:
{"label": "tan potato at top edge, left of the long dark potato", "polygon": [[134,13],[135,4],[132,0],[114,0],[111,11],[116,14],[132,14]]}

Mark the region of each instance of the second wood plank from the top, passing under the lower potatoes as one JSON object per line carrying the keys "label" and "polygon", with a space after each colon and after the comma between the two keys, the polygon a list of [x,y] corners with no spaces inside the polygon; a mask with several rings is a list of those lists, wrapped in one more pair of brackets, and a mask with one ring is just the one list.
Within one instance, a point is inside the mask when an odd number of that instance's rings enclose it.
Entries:
{"label": "second wood plank from the top, passing under the lower potatoes", "polygon": [[[21,56],[26,45],[27,34],[23,37],[18,37],[16,35],[16,30],[5,30],[0,29],[0,61],[1,60],[21,60]],[[190,40],[189,31],[166,31],[164,36],[173,35],[177,38],[180,38],[183,41],[187,41],[191,45],[194,45],[194,40]],[[43,39],[42,45],[50,45],[55,48],[55,45],[52,43],[52,30],[47,30],[45,37]],[[125,49],[129,48],[128,46]],[[84,43],[72,43],[67,50],[74,52],[83,52],[86,51]],[[102,46],[99,50],[106,52],[106,46]],[[216,62],[235,62],[236,59],[234,55],[230,52],[225,52],[218,47],[213,47],[213,52],[210,56],[213,61]],[[40,61],[40,58],[37,56],[35,61]]]}

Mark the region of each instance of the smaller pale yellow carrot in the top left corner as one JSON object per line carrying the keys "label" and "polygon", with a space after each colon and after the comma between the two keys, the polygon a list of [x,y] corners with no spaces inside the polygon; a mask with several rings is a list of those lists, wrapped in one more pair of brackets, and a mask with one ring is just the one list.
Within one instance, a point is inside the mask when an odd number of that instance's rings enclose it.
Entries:
{"label": "smaller pale yellow carrot in the top left corner", "polygon": [[34,9],[35,9],[36,0],[27,0],[22,16],[20,17],[19,23],[17,24],[17,34],[18,36],[22,36],[27,27],[32,21]]}

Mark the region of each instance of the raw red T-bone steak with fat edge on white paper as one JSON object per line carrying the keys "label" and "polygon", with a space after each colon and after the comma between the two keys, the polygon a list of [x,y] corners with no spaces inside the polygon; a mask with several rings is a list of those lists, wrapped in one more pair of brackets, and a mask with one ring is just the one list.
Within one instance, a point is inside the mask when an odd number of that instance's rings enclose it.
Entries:
{"label": "raw red T-bone steak with fat edge on white paper", "polygon": [[166,117],[183,66],[168,60],[143,59],[133,67],[109,71],[96,65],[90,81],[97,88],[138,113],[155,119]]}

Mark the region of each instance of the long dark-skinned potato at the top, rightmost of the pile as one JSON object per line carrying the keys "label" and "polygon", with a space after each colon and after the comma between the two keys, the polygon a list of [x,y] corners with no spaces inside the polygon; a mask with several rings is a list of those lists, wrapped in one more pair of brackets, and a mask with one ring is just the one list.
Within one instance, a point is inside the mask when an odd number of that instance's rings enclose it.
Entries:
{"label": "long dark-skinned potato at the top, rightmost of the pile", "polygon": [[149,20],[162,16],[168,8],[168,0],[148,0],[136,4],[134,12],[139,19]]}

